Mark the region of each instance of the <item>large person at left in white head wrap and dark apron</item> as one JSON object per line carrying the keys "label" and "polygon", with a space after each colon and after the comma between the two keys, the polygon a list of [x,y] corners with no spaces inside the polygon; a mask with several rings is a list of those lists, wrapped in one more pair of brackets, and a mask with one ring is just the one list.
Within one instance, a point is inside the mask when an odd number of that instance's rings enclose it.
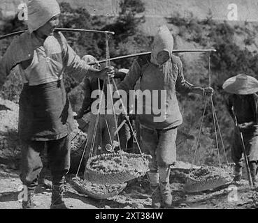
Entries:
{"label": "large person at left in white head wrap and dark apron", "polygon": [[23,208],[34,208],[33,194],[42,169],[41,153],[48,149],[52,174],[51,208],[66,208],[62,199],[70,168],[73,112],[64,89],[64,72],[83,79],[113,75],[113,68],[96,70],[81,60],[66,38],[55,32],[60,8],[56,0],[30,0],[28,31],[13,40],[0,61],[0,87],[15,66],[23,80],[18,133],[22,142]]}

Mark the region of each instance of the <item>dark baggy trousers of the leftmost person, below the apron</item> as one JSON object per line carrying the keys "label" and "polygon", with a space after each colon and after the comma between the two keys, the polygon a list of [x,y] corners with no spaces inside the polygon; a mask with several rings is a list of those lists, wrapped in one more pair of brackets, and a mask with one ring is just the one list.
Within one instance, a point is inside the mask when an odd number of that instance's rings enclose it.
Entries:
{"label": "dark baggy trousers of the leftmost person, below the apron", "polygon": [[71,137],[50,141],[22,141],[22,167],[20,179],[29,190],[38,185],[43,167],[41,153],[47,148],[52,184],[61,186],[70,168]]}

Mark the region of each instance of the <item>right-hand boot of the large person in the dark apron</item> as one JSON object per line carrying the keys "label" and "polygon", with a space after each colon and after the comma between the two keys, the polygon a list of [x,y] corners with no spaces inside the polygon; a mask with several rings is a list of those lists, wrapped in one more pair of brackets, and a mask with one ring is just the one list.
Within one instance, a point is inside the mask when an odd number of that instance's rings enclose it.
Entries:
{"label": "right-hand boot of the large person in the dark apron", "polygon": [[63,201],[64,185],[52,185],[51,209],[69,209]]}

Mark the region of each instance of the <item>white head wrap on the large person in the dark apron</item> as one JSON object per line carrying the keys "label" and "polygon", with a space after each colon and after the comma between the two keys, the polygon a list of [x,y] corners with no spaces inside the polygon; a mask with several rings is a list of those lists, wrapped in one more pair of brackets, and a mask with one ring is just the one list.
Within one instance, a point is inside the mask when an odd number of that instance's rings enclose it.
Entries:
{"label": "white head wrap on the large person in the dark apron", "polygon": [[29,33],[37,30],[59,14],[60,7],[56,0],[29,0],[27,20]]}

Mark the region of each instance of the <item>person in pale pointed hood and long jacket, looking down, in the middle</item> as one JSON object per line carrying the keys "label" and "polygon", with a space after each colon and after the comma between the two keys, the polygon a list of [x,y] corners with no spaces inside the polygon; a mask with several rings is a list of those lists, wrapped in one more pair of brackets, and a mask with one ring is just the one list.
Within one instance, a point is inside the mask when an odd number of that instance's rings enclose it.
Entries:
{"label": "person in pale pointed hood and long jacket, looking down, in the middle", "polygon": [[[141,125],[142,150],[152,155],[148,178],[153,208],[167,208],[172,203],[169,183],[170,166],[176,160],[175,139],[178,126],[182,124],[182,115],[175,92],[201,95],[213,93],[211,88],[203,89],[185,81],[182,62],[172,52],[171,32],[166,26],[161,26],[155,36],[150,58],[136,59],[124,81],[118,86],[118,89],[129,91],[134,89],[140,79],[140,90],[146,93],[150,91],[150,97],[153,97],[149,100],[152,101],[151,103],[147,102],[150,98],[143,97],[143,104],[137,104],[137,110],[139,107],[143,108],[143,114],[137,114]],[[159,93],[157,98],[154,98],[155,92]],[[162,92],[166,93],[165,97],[161,96]],[[164,107],[161,114],[157,114],[152,109],[154,104]],[[152,112],[145,112],[146,108]]]}

